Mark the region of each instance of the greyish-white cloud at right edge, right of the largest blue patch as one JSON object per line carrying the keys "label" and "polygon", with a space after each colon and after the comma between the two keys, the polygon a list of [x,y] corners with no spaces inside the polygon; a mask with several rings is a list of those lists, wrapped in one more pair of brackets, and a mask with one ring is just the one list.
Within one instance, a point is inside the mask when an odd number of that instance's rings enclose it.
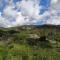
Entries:
{"label": "greyish-white cloud at right edge, right of the largest blue patch", "polygon": [[60,25],[60,1],[59,0],[52,0],[52,4],[50,7],[49,19],[47,19],[47,24],[54,24]]}

